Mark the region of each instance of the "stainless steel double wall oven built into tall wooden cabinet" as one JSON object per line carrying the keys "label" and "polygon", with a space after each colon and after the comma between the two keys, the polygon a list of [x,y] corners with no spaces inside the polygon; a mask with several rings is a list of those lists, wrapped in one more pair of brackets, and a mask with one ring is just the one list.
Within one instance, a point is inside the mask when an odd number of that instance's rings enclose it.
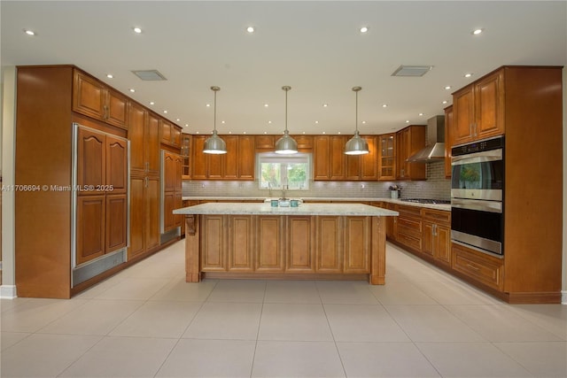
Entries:
{"label": "stainless steel double wall oven built into tall wooden cabinet", "polygon": [[503,256],[504,137],[451,151],[451,240]]}

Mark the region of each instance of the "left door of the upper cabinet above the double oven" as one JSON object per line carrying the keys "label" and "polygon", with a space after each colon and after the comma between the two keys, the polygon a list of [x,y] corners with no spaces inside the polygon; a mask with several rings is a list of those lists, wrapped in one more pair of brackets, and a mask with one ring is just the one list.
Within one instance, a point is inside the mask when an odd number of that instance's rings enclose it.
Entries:
{"label": "left door of the upper cabinet above the double oven", "polygon": [[453,94],[454,126],[451,129],[451,145],[467,143],[474,135],[474,96],[472,85]]}

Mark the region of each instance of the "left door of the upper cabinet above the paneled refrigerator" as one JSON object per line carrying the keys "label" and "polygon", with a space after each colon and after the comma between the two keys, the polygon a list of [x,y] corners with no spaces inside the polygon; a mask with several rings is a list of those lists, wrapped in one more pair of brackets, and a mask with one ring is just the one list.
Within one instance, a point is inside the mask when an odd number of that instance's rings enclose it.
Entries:
{"label": "left door of the upper cabinet above the paneled refrigerator", "polygon": [[74,71],[73,110],[97,120],[105,119],[105,85]]}

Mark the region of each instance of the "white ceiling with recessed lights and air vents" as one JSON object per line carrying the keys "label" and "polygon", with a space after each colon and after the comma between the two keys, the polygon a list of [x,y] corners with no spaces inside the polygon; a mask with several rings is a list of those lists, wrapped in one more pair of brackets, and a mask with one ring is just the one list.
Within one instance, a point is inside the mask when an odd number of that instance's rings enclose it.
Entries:
{"label": "white ceiling with recessed lights and air vents", "polygon": [[[3,0],[1,60],[79,66],[191,134],[213,129],[213,85],[219,134],[281,134],[289,85],[291,134],[352,135],[351,89],[361,86],[359,130],[384,134],[442,114],[455,89],[499,66],[565,65],[566,9],[564,1]],[[478,27],[484,33],[471,35]],[[400,65],[433,68],[392,77]],[[145,69],[167,81],[131,73]]]}

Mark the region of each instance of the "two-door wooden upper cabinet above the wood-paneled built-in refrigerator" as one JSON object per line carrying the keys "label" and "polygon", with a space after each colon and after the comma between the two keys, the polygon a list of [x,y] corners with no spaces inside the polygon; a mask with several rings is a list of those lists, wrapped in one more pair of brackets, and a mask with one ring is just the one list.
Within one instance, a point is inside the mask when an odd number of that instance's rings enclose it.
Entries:
{"label": "two-door wooden upper cabinet above the wood-paneled built-in refrigerator", "polygon": [[128,97],[76,69],[73,110],[110,125],[128,129]]}

